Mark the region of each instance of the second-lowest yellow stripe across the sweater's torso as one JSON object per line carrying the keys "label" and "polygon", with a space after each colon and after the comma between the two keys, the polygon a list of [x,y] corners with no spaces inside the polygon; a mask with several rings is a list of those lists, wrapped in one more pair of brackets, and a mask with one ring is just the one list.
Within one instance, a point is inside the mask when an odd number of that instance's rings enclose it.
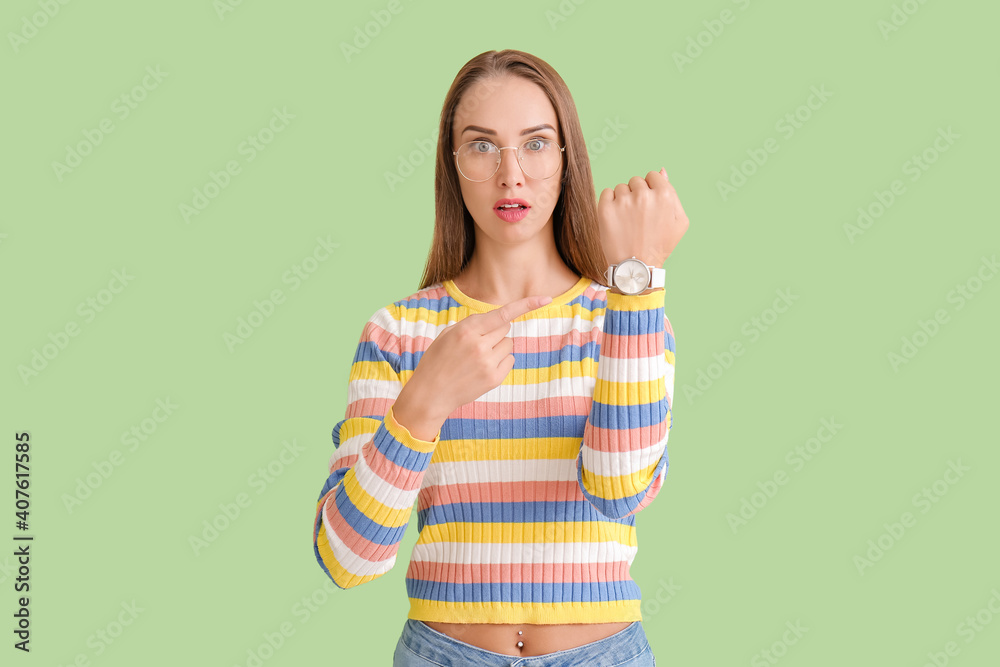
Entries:
{"label": "second-lowest yellow stripe across the sweater's torso", "polygon": [[635,526],[610,521],[546,521],[524,523],[472,523],[455,521],[425,525],[417,540],[465,544],[549,544],[553,542],[606,542],[637,546]]}

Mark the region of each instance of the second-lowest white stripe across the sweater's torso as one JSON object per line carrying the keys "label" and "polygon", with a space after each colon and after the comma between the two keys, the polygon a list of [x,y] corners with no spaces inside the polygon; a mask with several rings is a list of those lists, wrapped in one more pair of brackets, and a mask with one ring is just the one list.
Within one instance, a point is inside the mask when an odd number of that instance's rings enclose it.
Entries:
{"label": "second-lowest white stripe across the sweater's torso", "polygon": [[576,459],[431,461],[423,486],[482,482],[575,482]]}

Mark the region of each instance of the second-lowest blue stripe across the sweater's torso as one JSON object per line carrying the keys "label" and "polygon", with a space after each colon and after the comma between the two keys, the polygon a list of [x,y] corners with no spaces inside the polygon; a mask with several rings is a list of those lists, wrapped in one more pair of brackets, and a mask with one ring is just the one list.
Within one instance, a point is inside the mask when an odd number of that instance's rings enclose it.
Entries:
{"label": "second-lowest blue stripe across the sweater's torso", "polygon": [[420,530],[439,523],[577,523],[612,521],[634,526],[632,517],[608,519],[586,500],[460,502],[433,505],[417,512]]}

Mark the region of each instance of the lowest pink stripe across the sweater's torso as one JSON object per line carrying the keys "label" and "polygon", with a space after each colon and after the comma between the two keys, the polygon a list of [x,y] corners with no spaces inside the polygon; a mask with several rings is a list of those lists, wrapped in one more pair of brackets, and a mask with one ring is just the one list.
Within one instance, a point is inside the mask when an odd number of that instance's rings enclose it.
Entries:
{"label": "lowest pink stripe across the sweater's torso", "polygon": [[628,561],[610,563],[495,563],[491,565],[411,560],[407,579],[463,584],[632,581]]}

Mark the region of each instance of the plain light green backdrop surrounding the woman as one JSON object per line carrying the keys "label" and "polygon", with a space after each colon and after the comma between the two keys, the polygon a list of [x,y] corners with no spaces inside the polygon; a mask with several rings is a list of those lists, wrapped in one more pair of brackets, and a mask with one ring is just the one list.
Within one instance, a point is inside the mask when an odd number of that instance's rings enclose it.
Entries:
{"label": "plain light green backdrop surrounding the woman", "polygon": [[[415,525],[391,572],[343,591],[313,556],[315,501],[361,329],[424,266],[434,168],[420,146],[462,64],[502,48],[567,82],[598,190],[666,167],[690,218],[666,264],[670,473],[637,518],[632,567],[658,663],[922,665],[949,642],[949,664],[995,660],[1000,280],[977,282],[1000,249],[995,3],[403,0],[391,14],[93,0],[51,17],[43,4],[0,11],[0,426],[8,462],[14,434],[31,434],[35,536],[30,655],[11,646],[14,558],[0,557],[4,664],[246,665],[282,624],[264,664],[390,663]],[[713,23],[724,10],[731,22]],[[372,12],[391,20],[348,58]],[[142,89],[147,67],[165,75]],[[809,109],[812,87],[830,95]],[[275,108],[294,118],[250,161],[241,143]],[[779,123],[796,113],[788,136]],[[113,131],[57,174],[104,119]],[[609,123],[621,130],[602,144]],[[741,167],[769,139],[778,150]],[[933,163],[912,171],[925,151]],[[180,206],[230,160],[240,172],[186,221]],[[723,196],[741,168],[753,173]],[[895,180],[903,193],[849,238]],[[339,245],[284,280],[317,238]],[[102,292],[122,269],[127,286]],[[230,350],[224,335],[275,289],[284,302]],[[779,290],[797,299],[773,317]],[[79,304],[102,295],[88,320]],[[915,336],[939,310],[934,335]],[[920,346],[894,367],[904,338]],[[172,414],[125,445],[168,398]],[[795,464],[823,419],[841,426]],[[284,443],[301,449],[275,465]],[[116,450],[120,465],[68,506]],[[946,476],[950,462],[968,470]],[[269,464],[280,473],[262,486]],[[239,494],[249,506],[196,553],[191,536]],[[744,499],[758,507],[734,530]],[[893,537],[885,524],[905,512]],[[880,539],[890,548],[859,565]],[[133,601],[132,623],[101,640]],[[791,644],[786,623],[807,631]]]}

